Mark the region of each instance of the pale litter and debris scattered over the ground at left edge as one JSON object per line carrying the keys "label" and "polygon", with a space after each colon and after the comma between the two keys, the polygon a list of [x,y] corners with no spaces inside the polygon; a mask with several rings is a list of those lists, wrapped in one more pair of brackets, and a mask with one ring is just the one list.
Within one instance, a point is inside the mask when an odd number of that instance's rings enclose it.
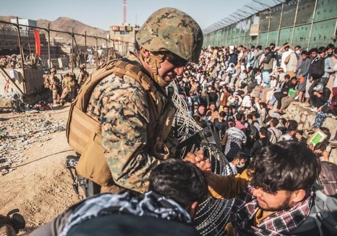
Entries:
{"label": "pale litter and debris scattered over the ground at left edge", "polygon": [[15,166],[26,159],[23,151],[33,143],[43,146],[49,140],[46,134],[65,130],[64,122],[53,119],[48,112],[28,110],[11,114],[15,119],[0,118],[0,175],[15,170]]}

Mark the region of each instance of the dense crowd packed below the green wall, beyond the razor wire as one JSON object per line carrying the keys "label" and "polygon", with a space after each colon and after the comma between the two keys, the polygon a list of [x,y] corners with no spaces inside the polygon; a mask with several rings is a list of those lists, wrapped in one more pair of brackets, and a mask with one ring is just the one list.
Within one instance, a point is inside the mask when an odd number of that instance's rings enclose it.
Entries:
{"label": "dense crowd packed below the green wall, beyond the razor wire", "polygon": [[[262,147],[277,141],[306,141],[304,132],[311,134],[326,117],[335,118],[336,72],[337,48],[332,44],[309,51],[288,43],[264,49],[208,47],[201,51],[198,64],[186,66],[176,84],[197,123],[218,129],[229,161],[238,152],[252,160]],[[293,102],[317,113],[308,130],[298,130],[295,120],[281,117]],[[329,145],[335,147],[337,140]],[[324,151],[319,158],[328,161]]]}

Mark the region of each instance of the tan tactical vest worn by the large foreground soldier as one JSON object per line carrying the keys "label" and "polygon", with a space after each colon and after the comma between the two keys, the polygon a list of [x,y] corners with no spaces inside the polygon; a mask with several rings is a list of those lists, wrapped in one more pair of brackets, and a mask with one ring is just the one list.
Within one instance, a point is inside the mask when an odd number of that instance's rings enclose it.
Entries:
{"label": "tan tactical vest worn by the large foreground soldier", "polygon": [[[112,60],[92,73],[82,85],[77,98],[71,105],[66,136],[68,143],[81,154],[76,166],[77,173],[101,186],[113,184],[110,168],[102,147],[102,126],[99,121],[86,114],[94,87],[110,74],[123,78],[124,75],[138,81],[147,93],[149,120],[147,143],[144,152],[158,159],[175,154],[178,140],[169,134],[176,108],[171,100],[162,94],[158,85],[139,66],[122,60]],[[171,103],[170,103],[171,102]]]}

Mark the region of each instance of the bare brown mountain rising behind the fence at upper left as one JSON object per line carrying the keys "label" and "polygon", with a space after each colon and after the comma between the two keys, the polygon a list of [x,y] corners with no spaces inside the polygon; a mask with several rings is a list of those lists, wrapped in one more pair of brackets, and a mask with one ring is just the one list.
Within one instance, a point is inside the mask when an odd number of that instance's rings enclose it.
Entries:
{"label": "bare brown mountain rising behind the fence at upper left", "polygon": [[[0,20],[4,21],[10,21],[11,18],[15,18],[13,16],[0,16]],[[92,27],[90,25],[84,24],[81,21],[74,20],[68,17],[59,17],[56,20],[49,21],[49,20],[43,20],[39,19],[37,20],[37,24],[39,27],[48,28],[48,23],[50,24],[50,29],[56,29],[60,31],[68,31],[72,32],[72,28],[74,27],[74,33],[81,33],[84,35],[84,32],[87,32],[87,35],[89,36],[97,36],[106,38],[109,34],[109,30],[104,30],[96,27]],[[45,30],[40,30],[41,33],[45,33],[46,38],[48,38],[48,34]],[[56,42],[60,43],[72,43],[72,37],[68,33],[60,33],[60,32],[50,32],[50,38],[52,41],[52,38],[55,38]],[[82,36],[75,36],[76,43],[78,45],[84,45],[84,37]],[[98,45],[102,45],[105,43],[105,40],[98,40]],[[87,45],[88,46],[94,46],[96,44],[96,40],[91,37],[87,37]]]}

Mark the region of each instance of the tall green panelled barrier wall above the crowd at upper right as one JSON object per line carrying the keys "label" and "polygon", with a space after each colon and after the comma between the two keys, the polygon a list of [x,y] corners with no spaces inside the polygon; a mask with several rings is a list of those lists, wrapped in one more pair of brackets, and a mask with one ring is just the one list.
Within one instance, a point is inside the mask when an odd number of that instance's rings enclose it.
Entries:
{"label": "tall green panelled barrier wall above the crowd at upper right", "polygon": [[[253,22],[259,26],[257,36],[250,36]],[[207,33],[204,47],[291,43],[308,49],[334,43],[336,27],[336,0],[291,0]]]}

